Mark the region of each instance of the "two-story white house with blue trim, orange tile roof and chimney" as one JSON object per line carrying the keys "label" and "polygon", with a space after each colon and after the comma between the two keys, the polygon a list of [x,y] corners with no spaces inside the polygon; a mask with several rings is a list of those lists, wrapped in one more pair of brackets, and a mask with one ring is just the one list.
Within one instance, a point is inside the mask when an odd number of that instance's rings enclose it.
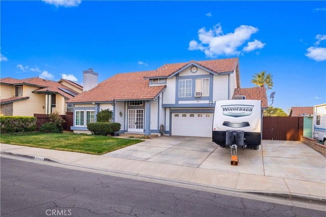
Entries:
{"label": "two-story white house with blue trim, orange tile roof and chimney", "polygon": [[[84,86],[85,78],[97,80],[93,70],[83,74]],[[90,133],[87,124],[108,108],[113,121],[121,124],[119,133],[211,137],[214,102],[231,99],[240,87],[239,60],[165,64],[152,71],[116,74],[89,86],[94,88],[68,100],[74,104],[75,133]]]}

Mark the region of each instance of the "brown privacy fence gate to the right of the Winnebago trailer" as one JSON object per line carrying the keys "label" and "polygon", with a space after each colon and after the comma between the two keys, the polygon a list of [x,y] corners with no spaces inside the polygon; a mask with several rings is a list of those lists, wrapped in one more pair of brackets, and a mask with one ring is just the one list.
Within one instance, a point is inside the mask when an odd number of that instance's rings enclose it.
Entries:
{"label": "brown privacy fence gate to the right of the Winnebago trailer", "polygon": [[300,141],[304,117],[263,117],[263,140]]}

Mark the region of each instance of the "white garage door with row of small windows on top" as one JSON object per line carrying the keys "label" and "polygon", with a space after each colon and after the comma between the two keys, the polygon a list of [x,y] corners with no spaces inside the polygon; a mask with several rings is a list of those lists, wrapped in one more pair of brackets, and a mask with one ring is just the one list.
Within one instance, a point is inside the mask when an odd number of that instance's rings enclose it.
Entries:
{"label": "white garage door with row of small windows on top", "polygon": [[212,136],[213,113],[172,113],[172,135]]}

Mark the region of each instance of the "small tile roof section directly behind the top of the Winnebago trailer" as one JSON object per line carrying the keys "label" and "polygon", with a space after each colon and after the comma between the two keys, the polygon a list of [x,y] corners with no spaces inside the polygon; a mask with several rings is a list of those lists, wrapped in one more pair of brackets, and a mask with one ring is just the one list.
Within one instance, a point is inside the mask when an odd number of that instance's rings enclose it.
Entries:
{"label": "small tile roof section directly behind the top of the Winnebago trailer", "polygon": [[267,108],[267,95],[266,95],[266,88],[264,87],[254,87],[254,88],[236,88],[234,89],[233,97],[234,96],[246,96],[246,99],[256,99],[261,100],[261,107]]}

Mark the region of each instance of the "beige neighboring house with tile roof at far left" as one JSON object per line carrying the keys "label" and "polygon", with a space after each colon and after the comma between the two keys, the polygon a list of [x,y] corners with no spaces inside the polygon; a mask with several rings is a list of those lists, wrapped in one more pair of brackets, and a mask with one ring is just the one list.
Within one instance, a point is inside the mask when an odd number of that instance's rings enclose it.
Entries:
{"label": "beige neighboring house with tile roof at far left", "polygon": [[8,116],[34,116],[55,111],[65,115],[69,109],[72,112],[66,101],[83,92],[82,86],[70,80],[53,82],[38,77],[1,78],[0,88],[1,115]]}

